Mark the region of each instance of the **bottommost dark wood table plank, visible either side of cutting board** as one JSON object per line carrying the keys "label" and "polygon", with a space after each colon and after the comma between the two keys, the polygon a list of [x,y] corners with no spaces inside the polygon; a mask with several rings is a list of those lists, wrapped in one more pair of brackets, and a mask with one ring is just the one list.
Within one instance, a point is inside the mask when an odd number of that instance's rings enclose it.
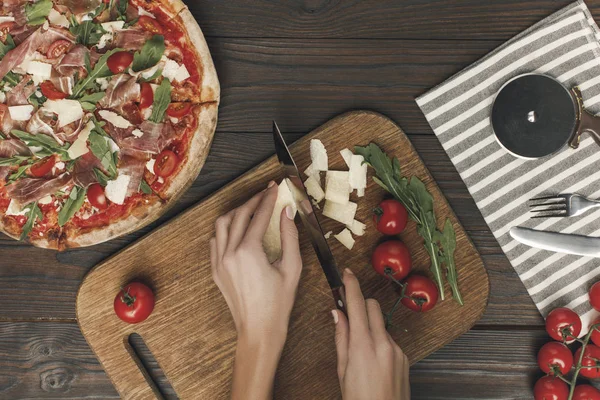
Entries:
{"label": "bottommost dark wood table plank, visible either side of cutting board", "polygon": [[[541,330],[473,330],[412,367],[412,398],[531,399],[541,376],[535,355],[547,340]],[[133,345],[139,349],[139,339]],[[151,374],[160,376],[148,351],[139,353]],[[165,378],[158,386],[174,398]],[[0,323],[0,398],[118,396],[77,325]]]}

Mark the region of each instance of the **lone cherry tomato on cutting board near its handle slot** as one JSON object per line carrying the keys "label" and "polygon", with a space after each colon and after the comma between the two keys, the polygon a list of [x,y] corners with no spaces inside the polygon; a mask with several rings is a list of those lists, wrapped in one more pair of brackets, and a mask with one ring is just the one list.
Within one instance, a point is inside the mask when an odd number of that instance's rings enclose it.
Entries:
{"label": "lone cherry tomato on cutting board near its handle slot", "polygon": [[129,323],[144,321],[154,310],[154,293],[143,283],[132,282],[125,286],[115,297],[115,313]]}

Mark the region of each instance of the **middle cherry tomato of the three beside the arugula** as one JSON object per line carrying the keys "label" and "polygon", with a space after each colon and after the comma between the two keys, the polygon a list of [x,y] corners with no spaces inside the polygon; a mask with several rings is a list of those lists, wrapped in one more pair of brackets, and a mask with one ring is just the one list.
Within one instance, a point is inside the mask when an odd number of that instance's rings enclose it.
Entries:
{"label": "middle cherry tomato of the three beside the arugula", "polygon": [[375,248],[371,257],[375,272],[398,281],[406,278],[412,268],[408,247],[399,240],[388,240]]}

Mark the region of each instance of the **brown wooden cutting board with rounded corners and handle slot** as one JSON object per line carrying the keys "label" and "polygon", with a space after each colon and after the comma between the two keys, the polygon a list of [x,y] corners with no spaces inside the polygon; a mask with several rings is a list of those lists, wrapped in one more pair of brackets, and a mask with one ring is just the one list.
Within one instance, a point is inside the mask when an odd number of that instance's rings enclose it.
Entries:
{"label": "brown wooden cutting board with rounded corners and handle slot", "polygon": [[[459,285],[465,305],[451,298],[425,314],[400,308],[391,334],[411,364],[469,330],[487,305],[489,281],[483,262],[457,221],[446,199],[402,130],[386,117],[356,111],[341,115],[291,146],[303,171],[310,163],[309,142],[321,139],[329,153],[330,169],[346,170],[339,150],[375,142],[397,156],[405,176],[416,175],[433,194],[438,225],[450,218],[457,234],[455,254]],[[252,149],[248,149],[252,151]],[[372,171],[369,172],[371,176]],[[210,272],[209,240],[215,219],[242,205],[272,180],[281,179],[275,157],[246,173],[200,204],[158,228],[130,247],[95,267],[84,279],[77,296],[81,330],[124,399],[160,398],[128,344],[138,333],[147,344],[180,399],[226,399],[229,394],[236,335],[233,321]],[[354,197],[355,195],[353,195]],[[367,223],[365,236],[347,250],[330,239],[340,267],[350,267],[366,296],[389,310],[394,286],[370,267],[370,255],[383,237],[371,222],[371,210],[384,192],[369,177],[365,198],[358,200],[357,219]],[[354,199],[357,201],[357,199]],[[321,218],[325,231],[343,226]],[[333,300],[316,256],[300,229],[304,269],[292,313],[288,341],[276,378],[277,399],[336,399]],[[427,274],[429,257],[409,223],[402,240],[408,245],[416,270]],[[243,276],[240,276],[243,279]],[[119,288],[132,280],[149,284],[157,302],[143,323],[128,325],[113,312]],[[446,287],[450,297],[450,290]]]}

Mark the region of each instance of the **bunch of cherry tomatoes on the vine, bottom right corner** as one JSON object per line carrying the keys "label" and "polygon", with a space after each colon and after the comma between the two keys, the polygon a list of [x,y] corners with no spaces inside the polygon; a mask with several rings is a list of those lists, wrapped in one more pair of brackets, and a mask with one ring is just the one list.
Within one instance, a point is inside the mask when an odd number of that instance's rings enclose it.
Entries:
{"label": "bunch of cherry tomatoes on the vine, bottom right corner", "polygon": [[[592,286],[589,296],[592,307],[600,311],[600,282]],[[546,343],[538,353],[538,365],[546,376],[535,384],[535,400],[600,400],[600,390],[591,385],[577,385],[571,390],[579,375],[600,378],[600,317],[592,323],[591,332],[583,340],[578,339],[581,329],[579,315],[568,308],[552,310],[546,317],[546,331],[555,341]],[[593,344],[588,344],[589,340]],[[567,344],[575,341],[582,346],[573,356]],[[566,376],[573,366],[575,373],[570,380]]]}

